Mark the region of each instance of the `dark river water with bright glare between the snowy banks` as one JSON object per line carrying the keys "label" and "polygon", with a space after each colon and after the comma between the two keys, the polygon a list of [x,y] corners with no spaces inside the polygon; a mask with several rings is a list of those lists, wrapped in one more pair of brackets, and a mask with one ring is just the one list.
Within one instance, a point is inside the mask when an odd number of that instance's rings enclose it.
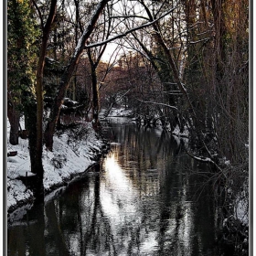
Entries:
{"label": "dark river water with bright glare between the snowy banks", "polygon": [[99,165],[9,225],[8,255],[221,255],[207,166],[159,130],[104,133],[115,144]]}

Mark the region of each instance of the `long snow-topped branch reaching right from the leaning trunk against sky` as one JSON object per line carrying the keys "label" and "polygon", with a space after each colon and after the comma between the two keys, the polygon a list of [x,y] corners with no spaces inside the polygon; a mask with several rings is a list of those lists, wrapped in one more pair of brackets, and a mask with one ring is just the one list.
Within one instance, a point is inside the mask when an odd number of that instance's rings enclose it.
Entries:
{"label": "long snow-topped branch reaching right from the leaning trunk against sky", "polygon": [[156,18],[155,20],[153,20],[153,21],[151,21],[151,22],[144,23],[143,25],[138,26],[138,27],[133,27],[133,28],[131,28],[131,29],[129,29],[129,30],[123,32],[122,34],[116,35],[115,37],[111,37],[111,38],[106,39],[106,40],[104,40],[104,41],[101,41],[101,42],[98,42],[98,43],[89,44],[89,45],[85,46],[84,48],[100,47],[100,46],[102,46],[102,45],[104,45],[104,44],[107,44],[107,43],[109,43],[109,42],[112,42],[112,41],[115,40],[115,39],[125,37],[125,36],[127,36],[128,34],[133,33],[133,31],[136,31],[136,30],[141,29],[141,28],[144,28],[144,27],[149,27],[149,26],[155,24],[155,22],[157,22],[157,21],[160,20],[161,18],[163,18],[163,17],[169,15],[170,13],[172,13],[175,9],[176,9],[176,7],[170,9],[170,10],[169,10],[168,12],[166,12],[163,16],[160,16],[160,17]]}

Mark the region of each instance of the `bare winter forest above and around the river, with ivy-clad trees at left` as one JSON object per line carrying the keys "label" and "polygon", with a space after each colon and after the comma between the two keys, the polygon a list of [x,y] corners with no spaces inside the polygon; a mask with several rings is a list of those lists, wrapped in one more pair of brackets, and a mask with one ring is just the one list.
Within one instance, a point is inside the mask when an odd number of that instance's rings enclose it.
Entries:
{"label": "bare winter forest above and around the river, with ivy-clad trees at left", "polygon": [[186,154],[210,166],[216,197],[226,195],[225,216],[242,197],[249,218],[248,0],[6,5],[8,143],[27,139],[38,201],[54,135],[82,120],[101,137],[101,119],[123,108],[144,127],[186,133]]}

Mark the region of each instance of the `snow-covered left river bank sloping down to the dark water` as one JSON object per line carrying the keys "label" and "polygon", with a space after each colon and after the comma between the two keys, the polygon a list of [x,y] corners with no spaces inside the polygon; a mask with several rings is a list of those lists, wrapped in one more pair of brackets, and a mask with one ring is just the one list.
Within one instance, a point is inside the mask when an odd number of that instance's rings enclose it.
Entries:
{"label": "snow-covered left river bank sloping down to the dark water", "polygon": [[[24,123],[21,121],[21,126]],[[9,136],[10,124],[7,124]],[[8,140],[8,138],[7,138]],[[76,176],[95,161],[95,156],[101,153],[103,142],[97,137],[91,123],[81,123],[73,131],[54,136],[53,151],[43,150],[44,187],[46,193],[62,186],[73,176]],[[7,210],[10,212],[26,202],[33,201],[33,192],[26,187],[21,179],[34,176],[30,172],[30,157],[28,141],[19,138],[19,144],[7,143],[7,152],[17,152],[15,156],[7,157]]]}

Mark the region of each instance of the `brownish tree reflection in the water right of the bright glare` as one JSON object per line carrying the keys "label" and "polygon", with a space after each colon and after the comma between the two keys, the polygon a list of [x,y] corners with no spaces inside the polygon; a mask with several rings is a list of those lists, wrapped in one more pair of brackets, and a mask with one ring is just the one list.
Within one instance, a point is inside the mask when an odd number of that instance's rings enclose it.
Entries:
{"label": "brownish tree reflection in the water right of the bright glare", "polygon": [[[117,155],[122,158],[117,161],[124,171],[129,170],[131,180],[138,187],[154,187],[154,183],[158,183],[158,178],[162,175],[162,170],[169,168],[165,166],[166,163],[178,161],[175,141],[171,141],[168,133],[163,132],[157,137],[154,130],[133,125],[124,126],[120,132],[118,142],[123,142],[123,147]],[[173,169],[174,166],[170,168]],[[146,190],[150,189],[145,188]]]}

